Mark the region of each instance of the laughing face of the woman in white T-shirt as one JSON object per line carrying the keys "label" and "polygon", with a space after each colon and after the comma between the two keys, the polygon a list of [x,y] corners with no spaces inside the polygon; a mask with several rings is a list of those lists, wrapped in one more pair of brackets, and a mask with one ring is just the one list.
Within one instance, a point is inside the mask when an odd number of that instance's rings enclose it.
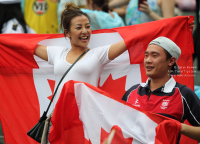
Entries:
{"label": "laughing face of the woman in white T-shirt", "polygon": [[70,39],[71,45],[87,47],[91,36],[90,22],[84,15],[76,16],[71,20],[70,31],[66,36]]}

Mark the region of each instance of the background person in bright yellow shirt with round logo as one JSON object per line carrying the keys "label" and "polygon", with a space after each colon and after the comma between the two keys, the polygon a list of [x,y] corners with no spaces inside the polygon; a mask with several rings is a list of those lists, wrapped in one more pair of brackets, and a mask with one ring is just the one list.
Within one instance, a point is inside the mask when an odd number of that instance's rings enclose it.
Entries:
{"label": "background person in bright yellow shirt with round logo", "polygon": [[58,33],[58,0],[21,0],[27,24],[37,34]]}

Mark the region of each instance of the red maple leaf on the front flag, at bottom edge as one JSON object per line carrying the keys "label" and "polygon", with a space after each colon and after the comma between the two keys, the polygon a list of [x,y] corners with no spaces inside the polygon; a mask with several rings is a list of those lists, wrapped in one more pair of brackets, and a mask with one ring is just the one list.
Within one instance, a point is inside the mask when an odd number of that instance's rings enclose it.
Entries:
{"label": "red maple leaf on the front flag, at bottom edge", "polygon": [[[133,138],[124,138],[121,128],[115,130],[116,132],[111,144],[132,144]],[[107,133],[103,128],[101,128],[101,143],[108,138],[109,134],[110,133]]]}

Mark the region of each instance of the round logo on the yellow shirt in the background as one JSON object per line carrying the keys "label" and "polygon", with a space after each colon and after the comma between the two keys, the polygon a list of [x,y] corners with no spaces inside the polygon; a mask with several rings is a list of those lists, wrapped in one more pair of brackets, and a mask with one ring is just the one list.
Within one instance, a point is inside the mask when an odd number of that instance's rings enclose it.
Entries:
{"label": "round logo on the yellow shirt in the background", "polygon": [[33,11],[38,15],[43,15],[47,12],[48,3],[46,0],[35,0],[33,3]]}

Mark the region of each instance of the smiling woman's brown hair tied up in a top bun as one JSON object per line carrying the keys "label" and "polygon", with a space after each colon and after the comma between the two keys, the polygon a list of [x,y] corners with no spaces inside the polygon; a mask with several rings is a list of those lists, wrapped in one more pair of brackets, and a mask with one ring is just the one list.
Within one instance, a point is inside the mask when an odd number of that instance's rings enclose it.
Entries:
{"label": "smiling woman's brown hair tied up in a top bun", "polygon": [[76,16],[86,16],[89,19],[89,16],[82,12],[78,6],[76,6],[74,3],[66,3],[65,9],[62,11],[61,14],[61,23],[60,23],[60,29],[64,28],[67,31],[70,31],[70,25],[71,20]]}

